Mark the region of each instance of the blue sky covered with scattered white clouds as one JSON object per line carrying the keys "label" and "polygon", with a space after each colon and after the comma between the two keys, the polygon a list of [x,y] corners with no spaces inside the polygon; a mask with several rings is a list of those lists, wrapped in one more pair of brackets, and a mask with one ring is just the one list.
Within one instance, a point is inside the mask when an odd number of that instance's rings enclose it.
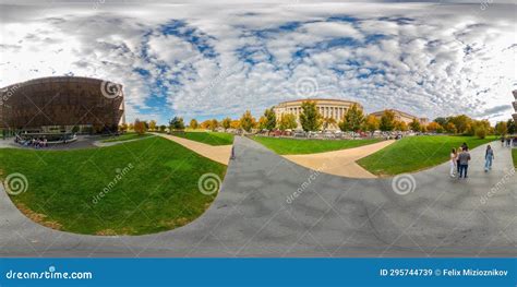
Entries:
{"label": "blue sky covered with scattered white clouds", "polygon": [[109,80],[128,121],[337,98],[495,122],[513,112],[516,13],[496,0],[0,0],[0,86]]}

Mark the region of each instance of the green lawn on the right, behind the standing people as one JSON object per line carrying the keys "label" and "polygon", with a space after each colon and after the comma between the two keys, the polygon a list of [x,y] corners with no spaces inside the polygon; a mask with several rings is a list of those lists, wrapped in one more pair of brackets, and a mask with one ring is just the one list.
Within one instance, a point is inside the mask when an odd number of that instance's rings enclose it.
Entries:
{"label": "green lawn on the right, behind the standing people", "polygon": [[394,176],[443,164],[449,159],[452,148],[458,148],[464,142],[469,148],[474,148],[494,140],[448,135],[410,136],[360,159],[358,164],[374,175]]}

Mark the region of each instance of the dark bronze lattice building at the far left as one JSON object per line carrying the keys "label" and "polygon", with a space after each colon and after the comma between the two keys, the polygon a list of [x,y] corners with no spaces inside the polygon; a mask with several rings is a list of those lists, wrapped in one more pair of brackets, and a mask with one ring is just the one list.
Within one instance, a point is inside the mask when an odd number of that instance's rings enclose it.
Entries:
{"label": "dark bronze lattice building at the far left", "polygon": [[0,89],[0,128],[29,132],[116,131],[124,118],[122,85],[52,76]]}

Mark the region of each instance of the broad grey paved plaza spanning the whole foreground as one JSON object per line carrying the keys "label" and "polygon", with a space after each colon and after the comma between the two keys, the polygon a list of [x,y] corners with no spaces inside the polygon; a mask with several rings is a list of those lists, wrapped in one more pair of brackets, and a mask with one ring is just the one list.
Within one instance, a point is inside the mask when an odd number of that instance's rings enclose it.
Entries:
{"label": "broad grey paved plaza spanning the whole foreground", "polygon": [[517,255],[517,176],[509,150],[497,143],[489,174],[485,146],[472,151],[468,180],[450,178],[448,164],[396,179],[347,179],[300,167],[245,137],[235,146],[237,158],[207,212],[155,235],[52,230],[0,192],[0,256]]}

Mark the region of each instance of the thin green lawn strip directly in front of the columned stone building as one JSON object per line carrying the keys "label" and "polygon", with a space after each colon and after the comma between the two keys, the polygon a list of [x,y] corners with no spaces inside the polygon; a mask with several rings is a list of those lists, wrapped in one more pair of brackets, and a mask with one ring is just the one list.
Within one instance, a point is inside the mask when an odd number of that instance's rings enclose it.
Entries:
{"label": "thin green lawn strip directly in front of the columned stone building", "polygon": [[303,140],[267,136],[253,136],[253,140],[280,155],[316,154],[381,142],[381,140]]}

